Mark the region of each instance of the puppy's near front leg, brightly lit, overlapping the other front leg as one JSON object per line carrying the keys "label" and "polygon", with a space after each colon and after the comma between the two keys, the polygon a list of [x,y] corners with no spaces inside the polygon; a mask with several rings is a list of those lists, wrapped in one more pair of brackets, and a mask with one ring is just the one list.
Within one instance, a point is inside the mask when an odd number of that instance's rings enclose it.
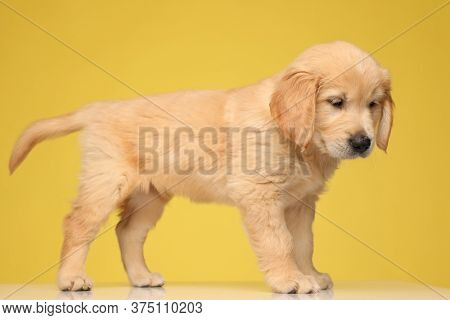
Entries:
{"label": "puppy's near front leg, brightly lit, overlapping the other front leg", "polygon": [[244,223],[267,283],[279,293],[310,293],[320,290],[314,277],[300,272],[293,257],[292,236],[284,210],[277,202],[246,207]]}

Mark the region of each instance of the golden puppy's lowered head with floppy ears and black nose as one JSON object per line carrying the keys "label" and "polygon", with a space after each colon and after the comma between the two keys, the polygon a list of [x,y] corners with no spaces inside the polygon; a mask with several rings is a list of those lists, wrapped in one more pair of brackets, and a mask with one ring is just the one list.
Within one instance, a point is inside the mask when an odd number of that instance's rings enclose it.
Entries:
{"label": "golden puppy's lowered head with floppy ears and black nose", "polygon": [[338,159],[386,151],[392,126],[390,77],[346,42],[306,50],[280,77],[270,102],[283,134]]}

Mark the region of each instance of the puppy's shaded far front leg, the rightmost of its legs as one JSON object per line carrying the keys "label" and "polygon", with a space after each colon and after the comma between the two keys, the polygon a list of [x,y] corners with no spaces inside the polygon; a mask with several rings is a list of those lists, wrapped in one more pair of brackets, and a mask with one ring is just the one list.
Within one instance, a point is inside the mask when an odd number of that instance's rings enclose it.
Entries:
{"label": "puppy's shaded far front leg, the rightmost of its legs", "polygon": [[285,217],[294,243],[294,256],[299,269],[313,276],[321,289],[333,286],[331,278],[314,267],[312,257],[314,250],[312,224],[314,221],[317,197],[304,198],[300,203],[286,209]]}

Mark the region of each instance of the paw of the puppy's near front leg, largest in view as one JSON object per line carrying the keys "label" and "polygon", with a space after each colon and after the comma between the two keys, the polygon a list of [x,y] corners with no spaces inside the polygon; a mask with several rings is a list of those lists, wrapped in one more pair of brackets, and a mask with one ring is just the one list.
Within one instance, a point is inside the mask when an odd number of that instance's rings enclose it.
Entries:
{"label": "paw of the puppy's near front leg, largest in view", "polygon": [[268,280],[276,293],[315,293],[320,286],[313,276],[299,275],[293,278],[278,278]]}

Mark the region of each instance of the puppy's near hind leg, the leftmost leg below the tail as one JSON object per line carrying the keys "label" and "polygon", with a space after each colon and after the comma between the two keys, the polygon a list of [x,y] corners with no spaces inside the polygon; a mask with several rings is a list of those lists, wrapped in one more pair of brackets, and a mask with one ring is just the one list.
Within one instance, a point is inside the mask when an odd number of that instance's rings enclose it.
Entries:
{"label": "puppy's near hind leg, the leftmost leg below the tail", "polygon": [[64,220],[64,243],[58,287],[61,290],[89,290],[91,280],[85,273],[89,245],[109,213],[135,188],[132,174],[113,161],[96,160],[82,173],[73,209]]}

